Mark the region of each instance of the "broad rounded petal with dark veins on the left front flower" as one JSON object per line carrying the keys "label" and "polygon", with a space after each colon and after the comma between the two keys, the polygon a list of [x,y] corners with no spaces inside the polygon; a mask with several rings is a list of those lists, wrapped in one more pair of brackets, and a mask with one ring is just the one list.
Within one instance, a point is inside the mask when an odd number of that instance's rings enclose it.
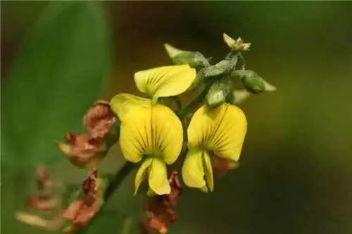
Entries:
{"label": "broad rounded petal with dark veins on the left front flower", "polygon": [[127,161],[137,162],[149,155],[172,164],[181,152],[182,141],[181,121],[167,106],[134,108],[122,119],[120,148]]}

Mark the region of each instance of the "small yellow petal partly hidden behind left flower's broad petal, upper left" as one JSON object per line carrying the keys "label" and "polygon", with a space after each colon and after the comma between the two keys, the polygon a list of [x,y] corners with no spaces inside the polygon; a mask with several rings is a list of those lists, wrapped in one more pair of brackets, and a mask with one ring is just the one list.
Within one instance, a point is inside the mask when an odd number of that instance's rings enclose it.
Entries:
{"label": "small yellow petal partly hidden behind left flower's broad petal, upper left", "polygon": [[137,97],[132,94],[118,94],[110,101],[111,109],[120,118],[122,118],[132,109],[136,107],[148,107],[151,105],[151,99]]}

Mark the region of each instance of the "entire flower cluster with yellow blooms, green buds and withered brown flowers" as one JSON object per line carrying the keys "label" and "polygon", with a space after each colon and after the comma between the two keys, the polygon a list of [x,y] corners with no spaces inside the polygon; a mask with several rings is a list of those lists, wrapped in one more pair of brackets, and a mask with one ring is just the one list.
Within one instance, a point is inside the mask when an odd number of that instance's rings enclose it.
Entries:
{"label": "entire flower cluster with yellow blooms, green buds and withered brown flowers", "polygon": [[[132,165],[138,166],[134,195],[139,190],[146,194],[143,233],[166,233],[168,224],[175,221],[173,207],[182,189],[177,165],[172,170],[170,165],[177,159],[184,184],[203,192],[214,190],[214,176],[224,176],[239,166],[247,121],[238,105],[250,94],[272,92],[276,87],[246,70],[241,53],[249,50],[250,43],[223,37],[230,53],[213,65],[199,51],[165,44],[175,65],[134,74],[144,97],[122,93],[110,102],[96,101],[83,118],[87,133],[66,133],[66,142],[58,143],[73,164],[90,170],[80,196],[63,212],[63,218],[71,222],[70,231],[88,225]],[[242,89],[235,90],[239,82]],[[193,99],[183,105],[179,96],[187,91]],[[117,142],[127,163],[107,179],[96,166]],[[46,199],[39,203],[47,205]]]}

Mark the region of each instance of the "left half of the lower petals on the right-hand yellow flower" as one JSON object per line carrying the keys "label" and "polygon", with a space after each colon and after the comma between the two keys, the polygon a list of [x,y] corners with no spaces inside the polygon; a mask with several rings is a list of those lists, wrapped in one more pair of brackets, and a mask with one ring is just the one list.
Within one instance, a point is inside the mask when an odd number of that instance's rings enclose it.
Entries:
{"label": "left half of the lower petals on the right-hand yellow flower", "polygon": [[201,149],[190,149],[182,166],[182,179],[188,187],[206,187]]}

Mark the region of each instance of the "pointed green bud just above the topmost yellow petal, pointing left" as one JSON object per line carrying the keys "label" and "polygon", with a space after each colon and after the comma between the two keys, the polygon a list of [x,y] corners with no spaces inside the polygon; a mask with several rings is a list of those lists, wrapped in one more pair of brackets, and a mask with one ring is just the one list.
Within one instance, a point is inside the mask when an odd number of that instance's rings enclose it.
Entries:
{"label": "pointed green bud just above the topmost yellow petal, pointing left", "polygon": [[170,44],[164,44],[168,55],[175,64],[189,64],[192,68],[210,66],[208,59],[199,51],[185,51],[172,47]]}

